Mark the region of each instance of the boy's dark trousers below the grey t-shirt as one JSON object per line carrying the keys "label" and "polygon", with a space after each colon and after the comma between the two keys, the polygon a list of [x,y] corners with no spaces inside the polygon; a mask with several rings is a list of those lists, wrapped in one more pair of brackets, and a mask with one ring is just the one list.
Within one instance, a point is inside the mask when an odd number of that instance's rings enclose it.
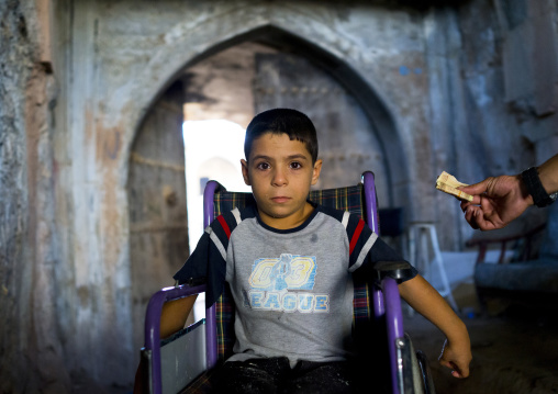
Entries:
{"label": "boy's dark trousers below the grey t-shirt", "polygon": [[299,361],[286,357],[225,362],[212,376],[214,393],[354,393],[348,363]]}

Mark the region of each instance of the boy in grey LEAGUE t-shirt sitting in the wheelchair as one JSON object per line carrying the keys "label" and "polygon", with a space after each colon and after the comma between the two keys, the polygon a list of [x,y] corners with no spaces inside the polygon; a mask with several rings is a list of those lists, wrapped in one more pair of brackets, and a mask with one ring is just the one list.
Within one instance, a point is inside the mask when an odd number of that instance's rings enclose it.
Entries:
{"label": "boy in grey LEAGUE t-shirt sitting in the wheelchair", "polygon": [[[213,384],[226,393],[350,392],[351,275],[402,259],[357,216],[306,200],[322,168],[308,116],[287,109],[258,114],[244,149],[243,177],[256,206],[217,217],[175,275],[179,283],[208,277],[208,305],[225,281],[231,285],[236,344]],[[440,363],[466,378],[464,323],[414,268],[408,271],[401,296],[444,331]]]}

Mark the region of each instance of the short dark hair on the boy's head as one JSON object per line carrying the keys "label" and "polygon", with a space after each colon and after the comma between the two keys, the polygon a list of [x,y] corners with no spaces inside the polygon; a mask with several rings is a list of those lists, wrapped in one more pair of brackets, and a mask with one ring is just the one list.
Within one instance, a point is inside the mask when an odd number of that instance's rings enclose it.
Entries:
{"label": "short dark hair on the boy's head", "polygon": [[290,140],[304,143],[312,156],[312,165],[317,159],[317,137],[314,124],[302,112],[291,109],[278,108],[264,111],[252,120],[246,128],[244,139],[244,155],[249,159],[252,143],[266,133],[287,134]]}

